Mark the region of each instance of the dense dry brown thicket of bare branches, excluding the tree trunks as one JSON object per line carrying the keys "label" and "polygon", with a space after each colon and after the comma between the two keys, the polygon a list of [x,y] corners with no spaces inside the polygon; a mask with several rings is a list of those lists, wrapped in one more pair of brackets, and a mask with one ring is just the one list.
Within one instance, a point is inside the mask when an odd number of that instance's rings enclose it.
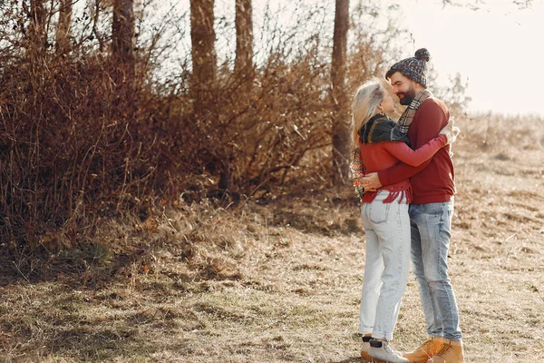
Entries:
{"label": "dense dry brown thicket of bare branches, excluding the tree trunks", "polygon": [[[169,204],[180,194],[189,203],[219,197],[225,206],[273,198],[279,187],[329,185],[330,4],[300,4],[298,23],[287,27],[267,14],[269,45],[256,53],[252,83],[225,59],[207,89],[208,107],[199,112],[187,59],[173,75],[160,67],[173,62],[163,55],[168,40],[160,37],[182,37],[186,15],[159,19],[155,28],[145,23],[151,13],[139,13],[138,26],[155,30],[140,34],[136,75],[123,85],[115,83],[123,70],[108,53],[110,5],[75,14],[71,50],[56,54],[28,43],[26,10],[13,4],[2,9],[0,22],[0,237],[6,245],[54,252],[91,243],[102,219],[145,221],[158,200]],[[354,16],[346,73],[353,91],[383,73],[398,54],[393,40],[405,36],[393,22],[370,32],[366,20],[380,16],[376,9],[361,5]],[[52,10],[47,19],[54,24]]]}

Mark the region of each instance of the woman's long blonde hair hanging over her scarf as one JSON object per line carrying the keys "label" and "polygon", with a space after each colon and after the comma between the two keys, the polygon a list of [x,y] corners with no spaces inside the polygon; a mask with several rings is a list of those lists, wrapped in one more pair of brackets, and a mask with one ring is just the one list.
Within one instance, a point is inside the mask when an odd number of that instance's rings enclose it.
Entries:
{"label": "woman's long blonde hair hanging over her scarf", "polygon": [[378,113],[378,105],[384,100],[387,90],[376,78],[364,83],[355,93],[352,105],[353,148],[359,144],[359,130],[364,123]]}

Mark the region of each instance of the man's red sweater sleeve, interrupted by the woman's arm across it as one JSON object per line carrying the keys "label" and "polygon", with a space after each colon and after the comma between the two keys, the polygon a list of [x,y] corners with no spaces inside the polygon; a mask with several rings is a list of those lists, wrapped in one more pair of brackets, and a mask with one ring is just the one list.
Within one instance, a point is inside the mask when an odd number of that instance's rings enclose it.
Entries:
{"label": "man's red sweater sleeve, interrupted by the woman's arm across it", "polygon": [[[417,113],[413,117],[413,123],[410,126],[408,137],[410,143],[418,148],[434,138],[438,132],[442,130],[448,123],[448,115],[444,113],[442,107],[432,100],[423,102]],[[382,185],[391,185],[396,182],[402,182],[405,179],[411,178],[418,172],[423,171],[429,165],[432,159],[423,162],[417,167],[399,162],[392,167],[378,172],[378,178]]]}

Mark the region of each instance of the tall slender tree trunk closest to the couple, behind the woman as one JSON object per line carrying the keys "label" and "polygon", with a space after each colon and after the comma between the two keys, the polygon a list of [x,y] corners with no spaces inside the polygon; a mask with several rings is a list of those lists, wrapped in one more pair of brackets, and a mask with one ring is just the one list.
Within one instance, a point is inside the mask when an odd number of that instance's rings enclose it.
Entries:
{"label": "tall slender tree trunk closest to the couple, behind the woman", "polygon": [[331,68],[333,101],[334,185],[349,179],[349,110],[345,94],[345,57],[349,27],[349,0],[336,0],[333,62]]}

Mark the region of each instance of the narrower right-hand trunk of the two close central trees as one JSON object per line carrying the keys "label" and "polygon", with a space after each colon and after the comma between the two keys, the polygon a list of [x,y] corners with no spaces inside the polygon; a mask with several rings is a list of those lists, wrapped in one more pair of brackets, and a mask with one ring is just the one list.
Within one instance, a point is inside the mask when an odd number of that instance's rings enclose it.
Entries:
{"label": "narrower right-hand trunk of the two close central trees", "polygon": [[236,60],[234,72],[247,85],[253,83],[253,8],[251,0],[236,0]]}

